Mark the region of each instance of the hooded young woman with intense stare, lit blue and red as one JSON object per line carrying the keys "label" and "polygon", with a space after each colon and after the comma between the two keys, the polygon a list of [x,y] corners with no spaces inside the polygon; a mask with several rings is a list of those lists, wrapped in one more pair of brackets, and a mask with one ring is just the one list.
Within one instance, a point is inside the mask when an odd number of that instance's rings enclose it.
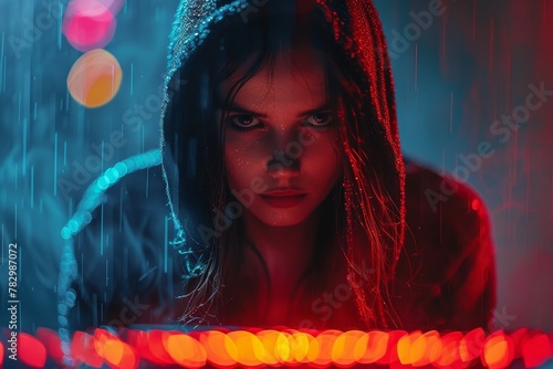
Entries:
{"label": "hooded young woman with intense stare, lit blue and red", "polygon": [[[486,211],[458,183],[444,196],[448,180],[431,171],[408,165],[406,179],[371,1],[184,0],[166,82],[163,178],[185,281],[173,321],[488,324]],[[154,318],[164,314],[140,318],[170,321]]]}

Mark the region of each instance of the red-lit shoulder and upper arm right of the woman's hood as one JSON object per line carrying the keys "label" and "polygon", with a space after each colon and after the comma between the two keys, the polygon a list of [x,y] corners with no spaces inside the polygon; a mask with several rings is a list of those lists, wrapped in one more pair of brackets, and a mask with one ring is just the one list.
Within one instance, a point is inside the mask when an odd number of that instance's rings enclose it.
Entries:
{"label": "red-lit shoulder and upper arm right of the woman's hood", "polygon": [[406,160],[398,312],[410,328],[486,327],[494,305],[494,247],[488,211],[469,186]]}

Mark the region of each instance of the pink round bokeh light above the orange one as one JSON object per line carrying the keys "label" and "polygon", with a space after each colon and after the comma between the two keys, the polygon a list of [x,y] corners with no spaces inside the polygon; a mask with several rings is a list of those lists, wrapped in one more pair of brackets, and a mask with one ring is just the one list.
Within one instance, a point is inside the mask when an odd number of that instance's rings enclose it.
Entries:
{"label": "pink round bokeh light above the orange one", "polygon": [[116,24],[114,13],[102,2],[73,0],[65,11],[63,34],[73,48],[87,52],[109,43]]}

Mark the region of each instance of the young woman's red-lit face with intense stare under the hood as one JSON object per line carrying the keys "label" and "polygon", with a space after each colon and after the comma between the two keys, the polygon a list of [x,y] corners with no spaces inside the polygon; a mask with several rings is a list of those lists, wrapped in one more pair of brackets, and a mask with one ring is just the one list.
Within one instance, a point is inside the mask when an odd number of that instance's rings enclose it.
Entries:
{"label": "young woman's red-lit face with intense stare under the hood", "polygon": [[[240,73],[221,84],[221,101]],[[229,187],[244,213],[294,225],[326,198],[342,173],[331,105],[317,54],[296,50],[279,54],[221,107]]]}

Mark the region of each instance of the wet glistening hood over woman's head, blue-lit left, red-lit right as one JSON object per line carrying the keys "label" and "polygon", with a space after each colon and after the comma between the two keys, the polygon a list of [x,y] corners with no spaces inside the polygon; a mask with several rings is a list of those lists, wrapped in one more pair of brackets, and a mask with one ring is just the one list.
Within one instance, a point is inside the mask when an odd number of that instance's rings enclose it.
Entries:
{"label": "wet glistening hood over woman's head, blue-lit left, red-lit right", "polygon": [[[188,231],[184,232],[187,223],[186,209],[181,209],[179,201],[184,197],[190,198],[190,201],[209,198],[208,192],[213,190],[207,184],[199,186],[189,181],[189,178],[194,176],[190,173],[190,165],[187,167],[188,172],[184,173],[181,169],[179,170],[182,168],[182,160],[198,159],[195,152],[202,149],[201,139],[185,137],[194,135],[194,131],[177,128],[186,125],[186,117],[176,113],[180,105],[175,103],[178,101],[180,87],[187,83],[180,80],[181,75],[190,73],[187,71],[192,67],[189,61],[212,36],[213,29],[222,27],[221,24],[226,22],[228,27],[231,27],[232,22],[247,23],[261,13],[270,18],[272,14],[282,12],[292,14],[316,12],[324,18],[328,29],[333,31],[336,45],[340,45],[354,70],[357,71],[356,81],[362,81],[361,85],[371,101],[368,104],[372,105],[372,114],[376,116],[375,125],[378,127],[375,131],[382,136],[384,145],[387,146],[383,157],[378,158],[379,167],[385,168],[380,176],[386,191],[398,209],[398,219],[395,221],[400,228],[403,241],[405,232],[404,161],[398,138],[390,64],[380,21],[373,3],[369,0],[181,0],[170,34],[160,120],[164,179],[173,221],[180,235],[175,246],[185,247],[181,253],[189,252],[190,244],[186,240],[189,238]],[[198,101],[198,104],[201,104],[201,101]],[[189,155],[182,157],[178,155],[180,151],[189,152]],[[199,169],[201,168],[196,168],[196,170]],[[211,214],[205,215],[206,219],[212,217]],[[394,251],[396,260],[399,246]]]}

